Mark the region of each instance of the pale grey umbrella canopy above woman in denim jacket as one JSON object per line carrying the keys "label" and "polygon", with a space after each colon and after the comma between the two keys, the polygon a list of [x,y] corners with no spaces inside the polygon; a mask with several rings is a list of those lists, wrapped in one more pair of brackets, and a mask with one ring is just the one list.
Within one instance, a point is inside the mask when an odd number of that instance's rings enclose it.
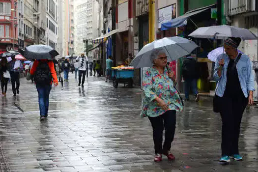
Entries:
{"label": "pale grey umbrella canopy above woman in denim jacket", "polygon": [[248,29],[228,25],[198,28],[188,36],[210,39],[225,39],[226,37],[240,37],[242,40],[257,39],[257,36]]}

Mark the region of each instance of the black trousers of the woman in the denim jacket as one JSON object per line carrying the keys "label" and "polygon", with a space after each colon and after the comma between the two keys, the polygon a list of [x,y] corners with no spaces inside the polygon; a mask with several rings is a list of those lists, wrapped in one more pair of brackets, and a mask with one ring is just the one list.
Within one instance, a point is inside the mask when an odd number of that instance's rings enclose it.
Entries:
{"label": "black trousers of the woman in the denim jacket", "polygon": [[244,110],[248,104],[248,98],[244,96],[222,98],[222,156],[239,154],[238,139],[240,125]]}

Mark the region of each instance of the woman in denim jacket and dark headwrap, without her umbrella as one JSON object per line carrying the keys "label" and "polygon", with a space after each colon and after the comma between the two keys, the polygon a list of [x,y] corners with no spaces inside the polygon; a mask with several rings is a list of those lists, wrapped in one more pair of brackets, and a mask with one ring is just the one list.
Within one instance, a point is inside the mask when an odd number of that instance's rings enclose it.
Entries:
{"label": "woman in denim jacket and dark headwrap, without her umbrella", "polygon": [[219,98],[222,118],[222,158],[220,162],[242,160],[239,155],[238,139],[241,119],[246,106],[254,103],[254,75],[252,62],[247,55],[237,52],[240,38],[229,37],[224,42],[226,55],[217,58],[214,78],[218,81],[215,96]]}

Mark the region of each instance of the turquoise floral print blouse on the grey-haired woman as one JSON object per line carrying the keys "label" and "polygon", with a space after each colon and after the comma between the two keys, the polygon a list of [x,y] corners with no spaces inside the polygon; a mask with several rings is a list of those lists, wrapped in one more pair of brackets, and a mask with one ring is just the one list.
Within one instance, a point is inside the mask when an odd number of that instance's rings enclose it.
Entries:
{"label": "turquoise floral print blouse on the grey-haired woman", "polygon": [[180,96],[173,86],[172,79],[169,78],[167,68],[164,74],[151,67],[143,75],[143,104],[141,117],[156,117],[163,115],[166,111],[154,100],[161,98],[167,103],[169,110],[182,111],[183,105]]}

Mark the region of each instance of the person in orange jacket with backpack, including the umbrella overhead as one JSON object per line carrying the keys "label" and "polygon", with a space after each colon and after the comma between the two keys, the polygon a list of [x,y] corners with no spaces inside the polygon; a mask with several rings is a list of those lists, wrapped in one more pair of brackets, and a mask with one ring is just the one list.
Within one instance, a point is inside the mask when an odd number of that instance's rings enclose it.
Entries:
{"label": "person in orange jacket with backpack, including the umbrella overhead", "polygon": [[30,74],[34,75],[34,81],[38,92],[40,120],[48,116],[49,94],[54,86],[58,85],[57,73],[53,59],[58,55],[57,51],[46,45],[31,45],[25,48],[25,57],[35,59]]}

